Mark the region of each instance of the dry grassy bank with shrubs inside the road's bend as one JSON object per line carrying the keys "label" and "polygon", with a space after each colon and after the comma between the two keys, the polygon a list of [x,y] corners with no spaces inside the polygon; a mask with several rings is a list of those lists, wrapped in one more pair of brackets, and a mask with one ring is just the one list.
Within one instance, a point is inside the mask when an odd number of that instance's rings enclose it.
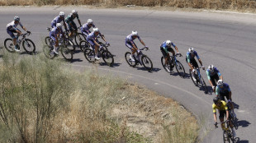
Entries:
{"label": "dry grassy bank with shrubs inside the road's bend", "polygon": [[196,141],[178,103],[97,69],[6,53],[0,67],[0,142]]}

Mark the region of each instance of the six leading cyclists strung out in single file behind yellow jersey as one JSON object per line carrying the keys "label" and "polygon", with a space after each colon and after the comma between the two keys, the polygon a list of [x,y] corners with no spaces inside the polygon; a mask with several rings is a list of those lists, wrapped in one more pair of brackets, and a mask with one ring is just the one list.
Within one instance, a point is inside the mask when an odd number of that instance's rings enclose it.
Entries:
{"label": "six leading cyclists strung out in single file behind yellow jersey", "polygon": [[[140,43],[145,46],[145,43],[143,42],[142,39],[140,39],[140,36],[138,35],[137,31],[132,31],[132,33],[130,35],[126,36],[126,46],[128,48],[130,48],[130,50],[132,52],[132,54],[130,55],[131,61],[135,61],[135,59],[134,59],[135,52],[140,53],[140,50],[137,48],[137,46],[134,42],[134,40],[136,38],[138,38],[140,40]],[[172,53],[173,56],[175,55],[175,52],[174,52],[172,46],[177,51],[177,55],[181,55],[181,53],[178,53],[177,46],[175,44],[173,44],[173,42],[171,40],[164,41],[160,45],[160,51],[161,51],[161,53],[163,53],[163,56],[165,59],[164,67],[168,66],[168,62],[169,62],[169,58],[170,58],[168,52]],[[137,56],[138,55],[139,54],[137,54]],[[205,70],[205,67],[202,65],[201,58],[199,58],[197,51],[194,50],[194,48],[188,48],[188,51],[186,54],[186,62],[187,62],[187,65],[192,70],[193,81],[197,81],[197,79],[194,76],[195,71],[196,71],[195,69],[198,68],[198,64],[197,64],[195,57],[197,58],[198,62],[200,62],[201,68],[203,70]],[[174,66],[174,65],[172,65],[172,66]],[[166,69],[169,70],[168,67]],[[171,67],[171,70],[173,70],[173,67]],[[212,90],[216,93],[216,97],[213,99],[213,104],[212,104],[215,126],[217,125],[216,109],[218,109],[219,113],[220,113],[220,116],[219,116],[220,122],[224,122],[224,117],[226,118],[226,120],[230,119],[229,112],[231,112],[233,114],[233,116],[236,118],[236,114],[234,112],[234,105],[232,103],[232,98],[231,98],[232,93],[230,90],[230,86],[226,83],[223,83],[223,77],[221,76],[220,71],[213,65],[210,65],[208,67],[208,69],[206,70],[206,75],[207,75],[208,81],[212,87]],[[225,98],[228,100],[227,103],[225,102]],[[231,127],[231,131],[233,133],[233,136],[235,137],[236,133],[235,133],[234,127],[232,125],[232,122],[229,122],[229,123],[230,123],[230,127]],[[225,124],[221,123],[221,127],[224,130]]]}

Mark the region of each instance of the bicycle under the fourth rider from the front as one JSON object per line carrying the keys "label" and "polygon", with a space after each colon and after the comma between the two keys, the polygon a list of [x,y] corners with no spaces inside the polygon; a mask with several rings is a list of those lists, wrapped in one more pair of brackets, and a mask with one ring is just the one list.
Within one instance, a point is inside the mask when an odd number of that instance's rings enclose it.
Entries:
{"label": "bicycle under the fourth rider from the front", "polygon": [[[201,68],[201,67],[197,67],[196,73],[194,73],[194,74],[192,74],[192,70],[189,69],[189,74],[190,74],[190,77],[191,77],[194,85],[196,85],[198,87],[201,86],[202,90],[204,90],[205,93],[207,94],[208,93],[208,88],[206,86],[206,82],[204,81],[204,79],[201,76],[199,68]],[[192,75],[194,75],[194,77],[196,78],[196,81],[193,80]]]}

